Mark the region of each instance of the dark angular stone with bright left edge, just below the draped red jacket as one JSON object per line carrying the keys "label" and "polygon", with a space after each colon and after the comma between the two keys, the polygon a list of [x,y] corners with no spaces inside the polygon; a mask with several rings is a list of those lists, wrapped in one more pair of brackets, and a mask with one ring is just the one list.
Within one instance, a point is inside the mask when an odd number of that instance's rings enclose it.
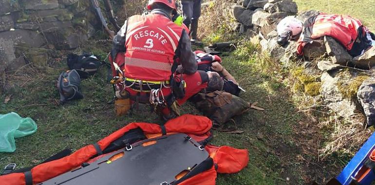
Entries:
{"label": "dark angular stone with bright left edge, just below the draped red jacket", "polygon": [[324,37],[325,47],[327,54],[331,57],[334,64],[339,64],[347,66],[353,57],[345,50],[345,48],[338,43],[333,37],[325,36]]}

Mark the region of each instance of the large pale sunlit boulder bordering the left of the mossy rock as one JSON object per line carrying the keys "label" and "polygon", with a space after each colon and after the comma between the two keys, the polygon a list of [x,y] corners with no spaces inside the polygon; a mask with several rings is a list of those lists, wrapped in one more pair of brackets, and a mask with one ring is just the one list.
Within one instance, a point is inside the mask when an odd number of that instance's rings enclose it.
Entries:
{"label": "large pale sunlit boulder bordering the left of the mossy rock", "polygon": [[356,104],[351,98],[345,97],[340,84],[350,84],[356,75],[351,73],[347,75],[343,70],[331,70],[321,75],[320,94],[323,103],[343,118],[351,118],[355,115]]}

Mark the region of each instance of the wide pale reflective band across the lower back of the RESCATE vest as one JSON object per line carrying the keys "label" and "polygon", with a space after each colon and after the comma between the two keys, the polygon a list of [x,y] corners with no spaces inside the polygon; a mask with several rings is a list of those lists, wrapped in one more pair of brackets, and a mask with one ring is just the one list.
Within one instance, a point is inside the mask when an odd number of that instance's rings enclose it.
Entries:
{"label": "wide pale reflective band across the lower back of the RESCATE vest", "polygon": [[142,68],[149,68],[155,70],[169,71],[172,69],[172,64],[167,62],[158,62],[153,60],[145,60],[140,58],[125,57],[125,65],[136,66]]}

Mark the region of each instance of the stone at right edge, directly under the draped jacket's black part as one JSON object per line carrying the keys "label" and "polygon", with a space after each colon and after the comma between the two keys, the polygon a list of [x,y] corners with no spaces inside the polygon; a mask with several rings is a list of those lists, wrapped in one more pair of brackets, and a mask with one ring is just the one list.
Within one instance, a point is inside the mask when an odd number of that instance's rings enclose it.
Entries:
{"label": "stone at right edge, directly under the draped jacket's black part", "polygon": [[375,66],[375,47],[367,49],[363,55],[354,57],[352,63],[361,69],[373,68]]}

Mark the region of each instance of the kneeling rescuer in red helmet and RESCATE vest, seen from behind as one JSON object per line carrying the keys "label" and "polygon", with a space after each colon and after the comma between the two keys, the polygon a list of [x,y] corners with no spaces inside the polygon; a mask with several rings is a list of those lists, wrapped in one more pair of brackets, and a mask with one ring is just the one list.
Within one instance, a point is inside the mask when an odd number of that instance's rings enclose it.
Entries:
{"label": "kneeling rescuer in red helmet and RESCATE vest, seen from behind", "polygon": [[127,19],[113,38],[115,109],[122,115],[134,103],[147,103],[168,120],[208,79],[197,71],[187,31],[172,21],[175,1],[150,0],[147,9],[149,14]]}

